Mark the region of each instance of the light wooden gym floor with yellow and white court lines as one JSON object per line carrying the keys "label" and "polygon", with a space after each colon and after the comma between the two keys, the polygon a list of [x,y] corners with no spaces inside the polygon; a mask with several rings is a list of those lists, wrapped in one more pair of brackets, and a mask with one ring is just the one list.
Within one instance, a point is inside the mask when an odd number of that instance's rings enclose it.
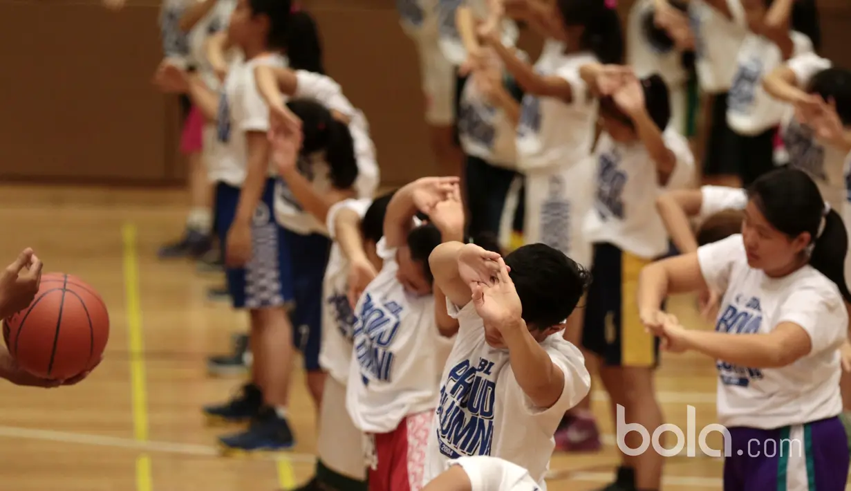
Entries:
{"label": "light wooden gym floor with yellow and white court lines", "polygon": [[[157,247],[180,232],[185,209],[180,191],[0,188],[0,263],[32,247],[45,271],[73,273],[97,288],[111,314],[105,359],[82,384],[41,390],[0,383],[3,489],[271,491],[311,476],[316,426],[300,372],[290,408],[294,450],[278,460],[217,455],[215,437],[230,429],[208,428],[199,409],[224,400],[240,380],[209,378],[206,357],[226,351],[247,318],[207,300],[219,275],[156,259]],[[681,319],[703,324],[693,300],[673,303]],[[668,422],[686,428],[687,405],[697,433],[713,422],[710,360],[665,356],[657,384]],[[555,455],[551,491],[594,489],[611,478],[616,448],[602,392],[595,391],[594,405],[608,445],[600,454]],[[710,443],[719,448],[717,438]],[[721,473],[719,460],[672,457],[664,489],[720,489]]]}

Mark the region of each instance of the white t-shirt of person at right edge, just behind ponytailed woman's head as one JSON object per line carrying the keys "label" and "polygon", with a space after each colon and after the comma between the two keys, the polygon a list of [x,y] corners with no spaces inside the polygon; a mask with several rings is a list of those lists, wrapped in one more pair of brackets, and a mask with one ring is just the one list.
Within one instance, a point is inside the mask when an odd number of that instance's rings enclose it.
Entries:
{"label": "white t-shirt of person at right edge, just behind ponytailed woman's head", "polygon": [[[831,60],[806,53],[792,58],[786,66],[795,73],[798,85],[806,89],[815,74],[831,67]],[[842,209],[848,200],[845,182],[848,154],[818,140],[812,128],[797,122],[793,111],[787,113],[782,135],[789,165],[809,174],[819,185],[825,201],[831,203],[833,209]]]}

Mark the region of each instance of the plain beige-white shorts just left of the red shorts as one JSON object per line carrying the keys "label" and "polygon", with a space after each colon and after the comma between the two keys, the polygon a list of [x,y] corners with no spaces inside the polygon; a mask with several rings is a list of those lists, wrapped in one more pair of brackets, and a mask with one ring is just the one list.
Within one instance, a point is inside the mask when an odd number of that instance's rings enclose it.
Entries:
{"label": "plain beige-white shorts just left of the red shorts", "polygon": [[319,460],[331,471],[357,481],[366,480],[363,433],[346,411],[346,385],[333,377],[325,378],[317,450]]}

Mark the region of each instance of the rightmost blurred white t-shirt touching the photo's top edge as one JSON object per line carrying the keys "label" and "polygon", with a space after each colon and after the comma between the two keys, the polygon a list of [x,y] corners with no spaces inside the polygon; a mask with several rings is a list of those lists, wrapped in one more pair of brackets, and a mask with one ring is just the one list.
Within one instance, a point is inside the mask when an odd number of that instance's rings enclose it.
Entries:
{"label": "rightmost blurred white t-shirt touching the photo's top edge", "polygon": [[733,20],[713,9],[704,0],[688,3],[688,20],[694,35],[695,68],[704,92],[726,92],[733,83],[736,64],[732,54],[739,53],[747,34],[745,9],[740,0],[727,0]]}

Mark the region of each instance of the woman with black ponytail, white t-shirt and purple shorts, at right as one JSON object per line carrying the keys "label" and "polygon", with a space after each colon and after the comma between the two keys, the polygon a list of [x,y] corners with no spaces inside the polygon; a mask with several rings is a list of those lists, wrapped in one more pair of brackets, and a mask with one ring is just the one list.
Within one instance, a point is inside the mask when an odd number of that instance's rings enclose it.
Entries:
{"label": "woman with black ponytail, white t-shirt and purple shorts, at right", "polygon": [[[728,429],[724,489],[836,489],[848,480],[839,414],[839,347],[851,300],[842,276],[848,235],[818,186],[797,169],[748,191],[742,233],[648,265],[644,325],[669,351],[717,360],[718,422]],[[715,332],[660,311],[668,294],[723,292]]]}

